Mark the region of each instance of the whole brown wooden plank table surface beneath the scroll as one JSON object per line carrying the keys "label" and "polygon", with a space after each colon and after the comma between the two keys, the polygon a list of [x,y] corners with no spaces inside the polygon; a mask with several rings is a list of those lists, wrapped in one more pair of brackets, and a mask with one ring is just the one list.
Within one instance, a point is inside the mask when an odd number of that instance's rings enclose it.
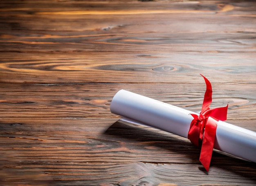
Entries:
{"label": "whole brown wooden plank table surface beneath the scroll", "polygon": [[256,1],[1,0],[0,186],[251,186],[256,163],[118,121],[126,89],[256,131]]}

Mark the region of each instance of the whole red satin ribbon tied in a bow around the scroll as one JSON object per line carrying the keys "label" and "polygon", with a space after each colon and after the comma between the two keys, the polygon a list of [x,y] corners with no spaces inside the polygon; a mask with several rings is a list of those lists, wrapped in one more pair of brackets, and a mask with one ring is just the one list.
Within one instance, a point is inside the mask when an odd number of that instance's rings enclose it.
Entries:
{"label": "whole red satin ribbon tied in a bow around the scroll", "polygon": [[[200,74],[203,76],[202,74]],[[204,94],[204,102],[202,110],[199,114],[191,114],[193,120],[190,124],[188,139],[195,145],[200,147],[200,161],[204,168],[209,171],[213,145],[216,136],[217,123],[219,120],[227,119],[227,107],[210,109],[212,89],[210,81],[204,77],[206,83],[206,91]]]}

